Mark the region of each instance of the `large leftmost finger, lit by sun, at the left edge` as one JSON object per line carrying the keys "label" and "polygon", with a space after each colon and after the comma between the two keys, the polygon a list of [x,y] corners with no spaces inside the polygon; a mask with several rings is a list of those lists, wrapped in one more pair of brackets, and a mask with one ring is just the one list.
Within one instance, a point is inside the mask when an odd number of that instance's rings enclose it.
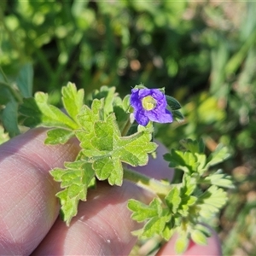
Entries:
{"label": "large leftmost finger, lit by sun, at the left edge", "polygon": [[74,160],[79,146],[47,146],[44,139],[45,129],[34,129],[0,147],[1,255],[31,253],[58,215],[59,187],[49,170]]}

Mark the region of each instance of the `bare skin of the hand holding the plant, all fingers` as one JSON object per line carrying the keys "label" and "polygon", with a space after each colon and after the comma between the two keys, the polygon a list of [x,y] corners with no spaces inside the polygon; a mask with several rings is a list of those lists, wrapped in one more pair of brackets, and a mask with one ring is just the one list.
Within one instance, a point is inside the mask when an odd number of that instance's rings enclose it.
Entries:
{"label": "bare skin of the hand holding the plant, all fingers", "polygon": [[[137,241],[131,231],[140,224],[131,220],[127,200],[148,203],[153,195],[129,182],[121,187],[98,183],[67,227],[58,217],[60,187],[49,170],[74,160],[79,143],[49,146],[44,139],[45,129],[38,128],[0,146],[0,255],[128,255]],[[160,146],[159,155],[165,150]],[[161,158],[137,170],[172,178]],[[175,255],[173,243],[158,255]],[[218,236],[213,234],[205,247],[191,243],[184,255],[221,255]]]}

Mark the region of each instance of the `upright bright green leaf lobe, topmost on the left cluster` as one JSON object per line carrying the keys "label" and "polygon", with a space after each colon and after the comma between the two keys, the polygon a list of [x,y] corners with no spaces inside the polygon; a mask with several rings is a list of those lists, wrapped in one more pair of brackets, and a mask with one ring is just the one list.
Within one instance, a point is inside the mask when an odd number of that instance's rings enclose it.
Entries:
{"label": "upright bright green leaf lobe, topmost on the left cluster", "polygon": [[77,115],[84,105],[84,90],[77,90],[75,84],[62,87],[62,102],[69,116],[77,122]]}

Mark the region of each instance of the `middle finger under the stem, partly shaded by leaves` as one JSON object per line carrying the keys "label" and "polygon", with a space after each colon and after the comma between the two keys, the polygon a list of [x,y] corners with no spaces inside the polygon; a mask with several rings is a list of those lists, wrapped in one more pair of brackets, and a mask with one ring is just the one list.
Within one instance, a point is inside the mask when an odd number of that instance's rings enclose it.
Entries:
{"label": "middle finger under the stem, partly shaded by leaves", "polygon": [[[162,154],[166,149],[160,146],[159,150]],[[168,177],[170,169],[162,157],[150,159],[148,168],[140,170],[153,174],[160,168],[157,177]],[[131,231],[141,225],[131,220],[127,201],[135,198],[148,203],[152,196],[132,183],[125,182],[122,187],[101,183],[89,191],[88,201],[80,203],[71,226],[67,228],[57,219],[33,255],[128,255],[137,241]]]}

